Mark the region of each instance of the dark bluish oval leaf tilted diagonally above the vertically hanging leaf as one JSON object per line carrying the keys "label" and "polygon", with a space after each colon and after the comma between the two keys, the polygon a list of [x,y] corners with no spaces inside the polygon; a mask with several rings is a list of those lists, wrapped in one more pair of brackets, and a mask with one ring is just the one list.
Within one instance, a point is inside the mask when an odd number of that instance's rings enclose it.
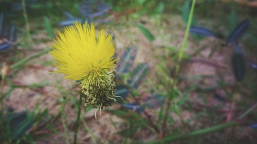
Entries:
{"label": "dark bluish oval leaf tilted diagonally above the vertically hanging leaf", "polygon": [[236,43],[236,40],[245,33],[249,24],[250,23],[248,19],[245,19],[242,22],[240,22],[228,36],[226,44]]}

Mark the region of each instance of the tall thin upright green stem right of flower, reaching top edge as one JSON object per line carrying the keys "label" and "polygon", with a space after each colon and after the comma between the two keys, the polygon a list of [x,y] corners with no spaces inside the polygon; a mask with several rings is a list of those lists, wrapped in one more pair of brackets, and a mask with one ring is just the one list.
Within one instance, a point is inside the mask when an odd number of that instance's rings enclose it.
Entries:
{"label": "tall thin upright green stem right of flower, reaching top edge", "polygon": [[[185,36],[183,38],[183,43],[182,43],[182,46],[180,48],[178,59],[177,59],[177,63],[178,64],[181,61],[184,49],[187,46],[188,34],[189,34],[189,29],[190,29],[190,26],[191,26],[191,23],[192,23],[192,19],[193,19],[195,2],[196,2],[196,0],[193,0],[192,6],[191,6],[191,9],[190,9],[190,14],[189,14],[189,19],[188,19],[186,33],[185,33]],[[175,78],[172,81],[172,89],[171,89],[172,96],[169,96],[169,98],[168,98],[168,104],[167,104],[167,108],[166,108],[165,115],[164,115],[164,118],[163,118],[163,123],[162,123],[162,131],[164,131],[164,129],[166,128],[166,122],[167,122],[168,113],[169,113],[169,109],[170,109],[170,105],[171,105],[171,100],[173,99],[173,92],[174,92],[174,89],[175,89],[175,86],[176,86],[176,83],[177,83],[176,77],[177,77],[178,70],[179,70],[179,65],[178,64],[175,66],[175,74],[174,74]]]}

